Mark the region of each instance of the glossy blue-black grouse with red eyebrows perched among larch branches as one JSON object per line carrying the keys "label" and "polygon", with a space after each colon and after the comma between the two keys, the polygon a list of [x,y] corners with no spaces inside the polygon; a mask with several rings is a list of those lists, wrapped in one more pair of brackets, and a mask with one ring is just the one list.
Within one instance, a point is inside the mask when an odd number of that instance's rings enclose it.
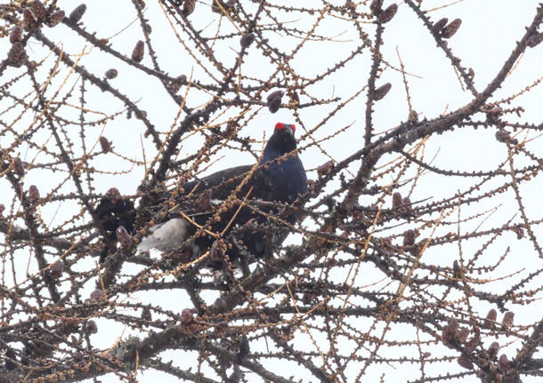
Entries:
{"label": "glossy blue-black grouse with red eyebrows perched among larch branches", "polygon": [[[276,214],[285,203],[292,203],[307,191],[304,165],[296,154],[296,126],[275,125],[255,165],[243,165],[215,172],[201,180],[183,185],[184,216],[175,216],[155,227],[142,238],[138,251],[181,249],[197,230],[191,249],[211,252],[212,267],[223,267],[228,259],[245,259],[246,255],[262,258],[284,241],[288,229],[283,222],[294,223],[299,214],[287,211]],[[186,201],[190,201],[190,206]],[[189,219],[187,219],[189,217]]]}

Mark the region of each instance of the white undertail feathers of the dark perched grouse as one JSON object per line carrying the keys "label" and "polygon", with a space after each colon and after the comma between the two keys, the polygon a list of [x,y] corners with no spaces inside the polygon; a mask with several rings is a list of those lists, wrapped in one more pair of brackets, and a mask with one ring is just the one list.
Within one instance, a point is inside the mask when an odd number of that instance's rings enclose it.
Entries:
{"label": "white undertail feathers of the dark perched grouse", "polygon": [[166,220],[155,227],[151,227],[151,234],[142,238],[138,244],[138,251],[173,251],[178,249],[185,241],[187,235],[187,221],[180,218]]}

